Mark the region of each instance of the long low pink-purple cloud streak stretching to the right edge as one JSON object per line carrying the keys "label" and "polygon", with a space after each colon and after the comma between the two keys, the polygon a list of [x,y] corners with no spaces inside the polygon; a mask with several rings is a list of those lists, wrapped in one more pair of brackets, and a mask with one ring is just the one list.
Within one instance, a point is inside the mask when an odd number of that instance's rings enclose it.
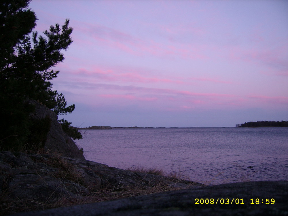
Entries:
{"label": "long low pink-purple cloud streak stretching to the right edge", "polygon": [[[89,82],[66,82],[61,83],[73,88],[76,94],[83,94],[83,97],[75,99],[85,101],[89,99],[90,104],[122,104],[139,105],[140,102],[153,102],[150,109],[165,109],[170,111],[190,110],[196,108],[214,108],[222,109],[230,107],[231,109],[247,107],[267,107],[274,105],[288,104],[288,97],[270,97],[264,95],[239,96],[233,94],[201,93],[183,90],[174,90],[168,88],[147,88],[141,86],[121,86],[115,84],[101,84]],[[85,96],[84,96],[85,95]],[[93,98],[91,100],[91,98]],[[98,99],[97,99],[98,98]],[[101,100],[100,98],[103,98]],[[126,103],[127,102],[127,103]]]}

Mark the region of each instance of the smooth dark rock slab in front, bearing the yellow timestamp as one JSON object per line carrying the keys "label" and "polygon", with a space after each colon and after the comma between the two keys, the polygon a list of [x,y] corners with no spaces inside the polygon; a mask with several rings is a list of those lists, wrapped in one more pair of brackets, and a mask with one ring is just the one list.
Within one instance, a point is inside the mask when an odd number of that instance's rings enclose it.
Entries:
{"label": "smooth dark rock slab in front, bearing the yellow timestamp", "polygon": [[[16,215],[288,215],[287,197],[288,181],[240,182],[182,189]],[[204,199],[204,204],[200,204],[201,198]],[[214,199],[213,204],[211,204],[212,198]],[[219,200],[216,204],[218,198]],[[221,204],[221,198],[224,204]],[[239,204],[236,204],[238,201],[236,200],[237,198],[239,199]],[[259,204],[256,204],[258,203],[256,201],[257,198],[260,199]],[[271,204],[272,198],[275,200],[274,204]],[[197,199],[199,199],[199,204],[196,204]],[[205,204],[205,199],[209,199],[209,204]],[[225,204],[228,202],[227,199],[229,199],[229,204]],[[251,204],[251,199],[253,199],[253,203],[255,204]],[[268,202],[266,199],[269,199],[270,204],[265,204],[265,202]]]}

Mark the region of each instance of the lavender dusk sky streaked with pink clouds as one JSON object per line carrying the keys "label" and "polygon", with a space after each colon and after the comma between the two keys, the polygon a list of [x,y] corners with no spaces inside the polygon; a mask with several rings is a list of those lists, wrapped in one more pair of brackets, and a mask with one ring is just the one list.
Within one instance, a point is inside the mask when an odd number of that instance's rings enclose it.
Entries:
{"label": "lavender dusk sky streaked with pink clouds", "polygon": [[288,1],[34,0],[41,33],[69,18],[52,80],[72,126],[288,121]]}

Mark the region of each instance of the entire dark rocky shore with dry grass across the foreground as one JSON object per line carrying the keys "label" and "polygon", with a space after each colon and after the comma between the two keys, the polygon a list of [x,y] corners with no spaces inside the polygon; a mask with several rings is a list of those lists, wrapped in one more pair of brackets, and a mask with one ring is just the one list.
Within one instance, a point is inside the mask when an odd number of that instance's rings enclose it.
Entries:
{"label": "entire dark rocky shore with dry grass across the foreground", "polygon": [[0,152],[1,215],[288,215],[287,197],[288,181],[206,186],[57,153]]}

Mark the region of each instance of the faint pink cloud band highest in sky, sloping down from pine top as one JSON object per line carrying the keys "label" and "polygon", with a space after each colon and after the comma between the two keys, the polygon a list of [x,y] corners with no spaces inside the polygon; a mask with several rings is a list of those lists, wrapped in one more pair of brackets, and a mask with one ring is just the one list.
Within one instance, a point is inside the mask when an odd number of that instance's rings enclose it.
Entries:
{"label": "faint pink cloud band highest in sky, sloping down from pine top", "polygon": [[[148,41],[134,37],[128,33],[97,24],[79,22],[75,29],[81,31],[83,35],[92,37],[94,42],[98,41],[100,46],[116,48],[133,55],[142,56],[143,54],[149,54],[165,58],[179,56],[185,59],[207,58],[201,54],[200,49],[195,44],[193,46],[179,44],[179,46],[175,47],[165,43],[157,43],[153,40]],[[79,36],[77,36],[77,40],[81,40]],[[82,39],[81,41],[85,43],[85,40]]]}

